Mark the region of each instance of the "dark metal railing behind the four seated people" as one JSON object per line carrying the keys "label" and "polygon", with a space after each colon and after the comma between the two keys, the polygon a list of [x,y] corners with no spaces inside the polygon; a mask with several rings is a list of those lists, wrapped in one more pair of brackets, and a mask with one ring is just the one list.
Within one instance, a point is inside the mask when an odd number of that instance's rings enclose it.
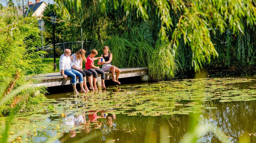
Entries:
{"label": "dark metal railing behind the four seated people", "polygon": [[[90,54],[92,43],[93,42],[91,42],[91,41],[83,41],[83,49],[85,49],[86,55]],[[53,48],[53,44],[44,46],[43,48],[42,47],[37,47],[37,51],[45,50],[46,48],[49,48],[49,47]],[[55,48],[59,48],[62,51],[64,51],[64,49],[70,49],[71,54],[74,54],[79,49],[81,49],[82,46],[81,46],[81,41],[78,41],[78,42],[64,42],[64,43],[55,44]]]}

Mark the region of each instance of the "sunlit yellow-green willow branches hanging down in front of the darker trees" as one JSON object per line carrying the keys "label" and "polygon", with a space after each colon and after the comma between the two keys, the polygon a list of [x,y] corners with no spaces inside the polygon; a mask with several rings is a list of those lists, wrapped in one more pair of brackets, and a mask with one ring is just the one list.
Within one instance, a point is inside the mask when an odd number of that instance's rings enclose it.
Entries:
{"label": "sunlit yellow-green willow branches hanging down in front of the darker trees", "polygon": [[[80,0],[59,1],[55,3],[57,12],[65,11],[62,15],[70,19],[69,9],[77,9],[77,13],[83,9],[83,2]],[[143,20],[150,19],[152,14],[149,12],[150,7],[155,8],[155,15],[160,20],[158,36],[162,41],[168,41],[172,45],[173,55],[178,56],[177,50],[180,43],[184,43],[184,47],[191,49],[191,65],[195,71],[202,67],[202,63],[211,61],[211,56],[218,57],[218,52],[212,42],[209,29],[215,34],[216,31],[225,33],[228,29],[233,34],[244,34],[244,27],[254,26],[255,22],[255,0],[232,1],[232,0],[153,0],[151,1],[85,1],[91,3],[86,8],[90,10],[89,15],[99,15],[94,21],[94,27],[100,31],[104,28],[106,15],[111,8],[119,9],[122,7],[126,16],[136,11],[137,18]],[[99,3],[99,5],[98,5]],[[82,6],[81,6],[82,5]],[[90,7],[91,6],[91,7]],[[96,7],[97,6],[97,7]],[[63,8],[62,8],[63,7]],[[91,9],[90,9],[91,8]],[[93,8],[93,9],[92,9]],[[84,11],[84,10],[83,10]],[[99,14],[99,11],[102,13]],[[152,10],[154,11],[154,10]],[[88,12],[87,12],[88,13]],[[86,15],[86,12],[85,12]],[[104,17],[105,15],[105,17]],[[77,15],[78,17],[78,15]],[[95,17],[95,16],[94,16]],[[94,18],[93,17],[93,18]],[[243,24],[245,21],[245,25]],[[98,22],[98,24],[97,24]],[[101,23],[100,23],[101,22]],[[100,32],[99,32],[100,35]]]}

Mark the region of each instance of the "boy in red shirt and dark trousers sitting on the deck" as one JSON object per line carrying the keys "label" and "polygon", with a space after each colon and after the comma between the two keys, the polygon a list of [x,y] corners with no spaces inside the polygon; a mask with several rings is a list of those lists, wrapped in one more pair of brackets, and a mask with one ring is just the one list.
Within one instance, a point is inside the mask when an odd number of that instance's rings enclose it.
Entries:
{"label": "boy in red shirt and dark trousers sitting on the deck", "polygon": [[96,79],[98,77],[98,73],[101,74],[101,87],[105,88],[105,72],[103,70],[100,70],[99,66],[94,66],[94,60],[102,59],[103,57],[94,58],[96,55],[98,55],[98,52],[96,49],[91,50],[91,54],[87,57],[87,62],[85,63],[86,70],[91,71],[93,73],[93,84],[94,89],[98,90],[96,86]]}

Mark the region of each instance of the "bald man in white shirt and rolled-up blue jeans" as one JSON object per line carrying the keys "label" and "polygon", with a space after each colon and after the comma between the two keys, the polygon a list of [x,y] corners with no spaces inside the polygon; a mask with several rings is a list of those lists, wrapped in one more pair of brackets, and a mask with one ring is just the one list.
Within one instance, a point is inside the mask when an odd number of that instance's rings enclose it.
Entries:
{"label": "bald man in white shirt and rolled-up blue jeans", "polygon": [[[71,62],[70,55],[71,55],[70,49],[65,49],[64,54],[60,56],[60,62],[59,62],[60,73],[64,78],[67,78],[68,76],[71,77],[71,83],[72,83],[72,86],[74,89],[74,93],[79,93],[76,89],[76,77],[78,76],[78,81],[79,81],[79,85],[81,87],[81,92],[86,92],[84,90],[84,86],[83,86],[83,74],[81,74],[80,72],[77,71],[77,70],[82,70],[82,69],[79,69],[78,67],[76,67],[74,65],[74,63]],[[73,67],[74,69],[77,69],[77,70],[72,70],[71,67]]]}

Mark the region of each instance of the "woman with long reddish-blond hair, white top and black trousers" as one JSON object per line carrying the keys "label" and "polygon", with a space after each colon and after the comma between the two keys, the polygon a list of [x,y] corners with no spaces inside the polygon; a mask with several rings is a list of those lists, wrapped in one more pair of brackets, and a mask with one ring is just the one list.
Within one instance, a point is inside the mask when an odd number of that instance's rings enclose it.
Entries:
{"label": "woman with long reddish-blond hair, white top and black trousers", "polygon": [[[81,69],[81,70],[77,70],[77,71],[79,71],[81,74],[83,74],[84,89],[88,92],[89,89],[87,88],[87,85],[86,85],[86,76],[88,76],[88,80],[89,80],[89,83],[90,83],[90,89],[92,91],[94,91],[94,88],[93,88],[93,76],[92,76],[93,74],[90,71],[88,71],[88,70],[82,69],[83,61],[86,63],[85,53],[86,53],[86,51],[84,49],[80,49],[76,53],[71,55],[70,59],[71,59],[72,63],[74,63],[74,65],[76,67]],[[76,69],[74,69],[74,70],[76,70]]]}

